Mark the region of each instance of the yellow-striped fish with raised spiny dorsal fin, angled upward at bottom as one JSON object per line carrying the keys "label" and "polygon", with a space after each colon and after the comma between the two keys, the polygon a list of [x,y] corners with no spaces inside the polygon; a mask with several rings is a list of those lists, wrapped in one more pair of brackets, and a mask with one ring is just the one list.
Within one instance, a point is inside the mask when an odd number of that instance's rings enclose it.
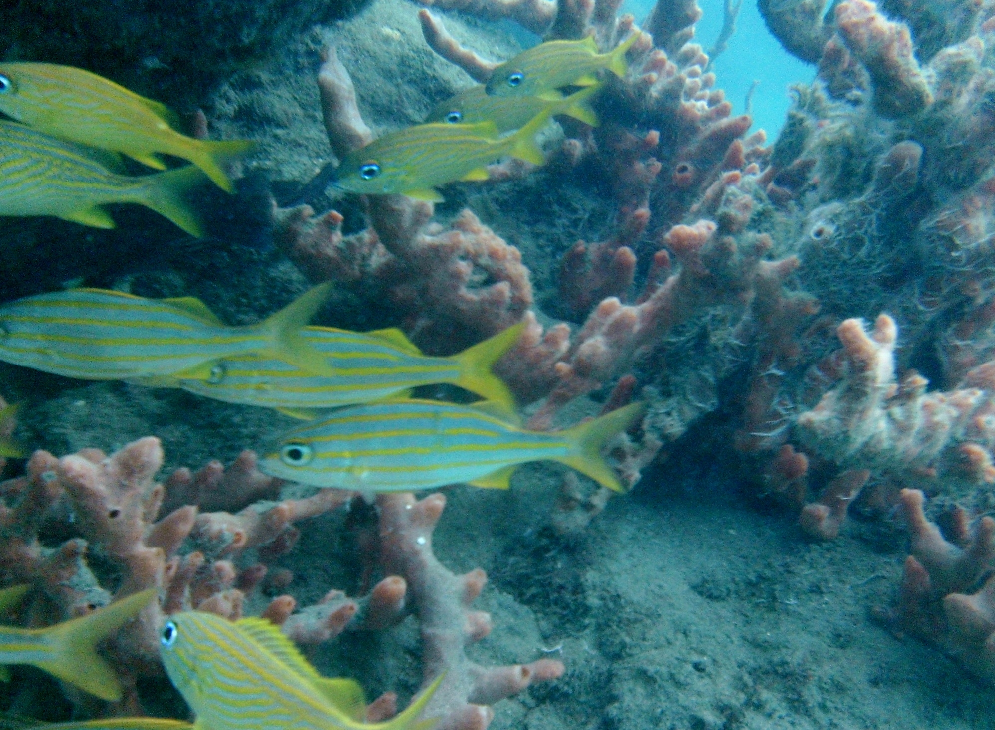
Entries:
{"label": "yellow-striped fish with raised spiny dorsal fin, angled upward at bottom", "polygon": [[365,714],[361,688],[351,680],[320,676],[290,639],[261,618],[177,613],[163,627],[160,644],[166,674],[200,728],[428,730],[436,722],[418,716],[438,679],[389,722],[361,722],[356,719]]}

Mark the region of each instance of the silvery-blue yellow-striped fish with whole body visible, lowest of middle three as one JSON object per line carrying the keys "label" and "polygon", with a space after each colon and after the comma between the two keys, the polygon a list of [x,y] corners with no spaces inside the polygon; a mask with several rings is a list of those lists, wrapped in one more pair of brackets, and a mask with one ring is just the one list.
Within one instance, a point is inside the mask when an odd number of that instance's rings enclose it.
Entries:
{"label": "silvery-blue yellow-striped fish with whole body visible, lowest of middle three", "polygon": [[259,468],[302,484],[367,493],[457,483],[506,489],[518,464],[552,459],[621,492],[601,447],[643,409],[633,403],[546,433],[520,428],[481,406],[387,400],[342,408],[285,433]]}

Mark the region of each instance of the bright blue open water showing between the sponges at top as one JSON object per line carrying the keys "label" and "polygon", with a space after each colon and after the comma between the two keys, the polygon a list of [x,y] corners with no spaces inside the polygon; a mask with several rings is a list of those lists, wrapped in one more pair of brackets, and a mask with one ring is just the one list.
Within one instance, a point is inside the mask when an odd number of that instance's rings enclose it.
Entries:
{"label": "bright blue open water showing between the sponges at top", "polygon": [[[653,0],[626,0],[622,9],[641,22],[653,5]],[[704,16],[697,24],[696,41],[707,51],[722,28],[722,0],[699,0],[698,5]],[[745,110],[750,85],[754,80],[760,82],[753,93],[753,128],[766,129],[770,139],[777,136],[791,104],[788,88],[792,84],[809,84],[815,78],[814,67],[788,54],[770,35],[751,0],[744,0],[735,35],[712,71],[718,76],[716,88],[724,90],[736,115]]]}

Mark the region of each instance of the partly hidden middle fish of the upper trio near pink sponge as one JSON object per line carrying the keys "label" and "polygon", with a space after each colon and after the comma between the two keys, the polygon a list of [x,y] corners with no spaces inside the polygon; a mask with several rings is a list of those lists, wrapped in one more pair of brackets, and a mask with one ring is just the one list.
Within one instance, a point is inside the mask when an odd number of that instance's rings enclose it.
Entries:
{"label": "partly hidden middle fish of the upper trio near pink sponge", "polygon": [[483,86],[477,86],[440,104],[425,121],[451,124],[495,122],[497,131],[510,131],[548,109],[552,116],[566,115],[597,126],[598,116],[589,102],[591,97],[601,91],[602,86],[597,84],[569,97],[553,90],[538,97],[513,98],[492,97]]}

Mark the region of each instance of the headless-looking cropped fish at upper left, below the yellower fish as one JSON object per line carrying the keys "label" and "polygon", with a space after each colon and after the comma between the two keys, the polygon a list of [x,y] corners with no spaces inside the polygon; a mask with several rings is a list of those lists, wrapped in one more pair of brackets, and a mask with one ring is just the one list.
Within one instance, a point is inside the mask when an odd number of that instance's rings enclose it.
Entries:
{"label": "headless-looking cropped fish at upper left, below the yellower fish", "polygon": [[140,177],[108,170],[106,156],[24,124],[0,122],[0,215],[54,215],[113,228],[101,205],[137,203],[202,235],[186,197],[204,182],[193,165]]}

